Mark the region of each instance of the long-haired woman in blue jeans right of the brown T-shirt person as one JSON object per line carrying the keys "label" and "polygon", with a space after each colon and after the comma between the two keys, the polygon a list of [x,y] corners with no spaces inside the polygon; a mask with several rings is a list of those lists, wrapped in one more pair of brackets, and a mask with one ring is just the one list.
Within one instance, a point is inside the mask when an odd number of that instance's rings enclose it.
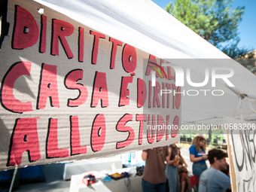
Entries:
{"label": "long-haired woman in blue jeans right of the brown T-shirt person", "polygon": [[166,176],[169,183],[169,192],[179,192],[179,179],[178,179],[178,148],[174,144],[169,145],[169,156],[166,160]]}

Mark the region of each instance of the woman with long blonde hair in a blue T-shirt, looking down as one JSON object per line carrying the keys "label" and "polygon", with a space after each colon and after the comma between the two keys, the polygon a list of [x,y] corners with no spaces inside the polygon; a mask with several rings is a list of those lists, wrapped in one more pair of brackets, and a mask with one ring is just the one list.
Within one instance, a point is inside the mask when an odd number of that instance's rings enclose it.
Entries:
{"label": "woman with long blonde hair in a blue T-shirt, looking down", "polygon": [[207,169],[206,160],[208,159],[208,155],[206,154],[206,139],[204,136],[195,136],[192,141],[192,145],[189,148],[189,153],[190,161],[193,162],[193,174],[197,175],[198,180],[200,180],[200,175]]}

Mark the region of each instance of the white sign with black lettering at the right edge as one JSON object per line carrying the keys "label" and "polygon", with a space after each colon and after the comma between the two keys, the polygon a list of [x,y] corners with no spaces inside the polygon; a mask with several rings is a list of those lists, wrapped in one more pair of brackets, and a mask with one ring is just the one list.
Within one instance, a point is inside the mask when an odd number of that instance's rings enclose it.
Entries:
{"label": "white sign with black lettering at the right edge", "polygon": [[[255,123],[224,117],[232,191],[255,191]],[[256,140],[256,139],[255,139]]]}

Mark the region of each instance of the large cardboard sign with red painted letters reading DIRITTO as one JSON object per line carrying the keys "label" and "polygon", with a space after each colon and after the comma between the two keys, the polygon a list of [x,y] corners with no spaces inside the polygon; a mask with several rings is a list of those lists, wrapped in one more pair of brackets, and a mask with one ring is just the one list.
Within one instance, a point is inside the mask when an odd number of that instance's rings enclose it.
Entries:
{"label": "large cardboard sign with red painted letters reading DIRITTO", "polygon": [[32,1],[8,1],[6,21],[1,170],[178,142],[181,88],[163,60]]}

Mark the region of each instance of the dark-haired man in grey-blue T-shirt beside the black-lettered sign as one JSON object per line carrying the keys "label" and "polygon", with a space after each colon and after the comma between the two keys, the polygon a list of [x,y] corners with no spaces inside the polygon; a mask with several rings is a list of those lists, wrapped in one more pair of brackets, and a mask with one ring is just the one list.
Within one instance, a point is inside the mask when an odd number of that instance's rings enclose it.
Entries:
{"label": "dark-haired man in grey-blue T-shirt beside the black-lettered sign", "polygon": [[227,154],[218,149],[209,151],[208,159],[210,168],[204,171],[200,177],[199,192],[224,192],[230,189],[230,178],[224,174],[227,170]]}

